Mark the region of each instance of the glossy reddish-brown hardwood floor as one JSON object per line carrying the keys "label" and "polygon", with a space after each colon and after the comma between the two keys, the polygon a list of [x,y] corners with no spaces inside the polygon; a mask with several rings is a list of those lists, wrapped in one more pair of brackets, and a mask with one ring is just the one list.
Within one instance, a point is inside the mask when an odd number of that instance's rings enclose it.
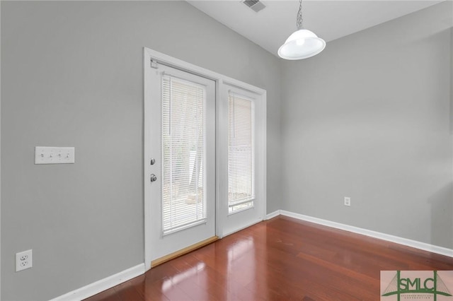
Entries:
{"label": "glossy reddish-brown hardwood floor", "polygon": [[453,270],[453,258],[278,216],[86,300],[371,301],[381,270]]}

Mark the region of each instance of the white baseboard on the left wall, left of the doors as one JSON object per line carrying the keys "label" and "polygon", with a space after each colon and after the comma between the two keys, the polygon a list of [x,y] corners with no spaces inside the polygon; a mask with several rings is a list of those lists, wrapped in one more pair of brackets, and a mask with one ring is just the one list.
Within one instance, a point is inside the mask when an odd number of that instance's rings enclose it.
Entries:
{"label": "white baseboard on the left wall, left of the doors", "polygon": [[134,277],[140,276],[144,272],[145,272],[144,264],[132,266],[132,268],[127,268],[127,270],[125,271],[121,271],[120,273],[116,273],[115,275],[103,278],[100,281],[93,282],[91,284],[84,286],[83,288],[73,290],[67,294],[56,297],[55,299],[52,299],[50,301],[84,300],[88,297],[101,293],[104,290],[113,288],[115,285],[128,281]]}

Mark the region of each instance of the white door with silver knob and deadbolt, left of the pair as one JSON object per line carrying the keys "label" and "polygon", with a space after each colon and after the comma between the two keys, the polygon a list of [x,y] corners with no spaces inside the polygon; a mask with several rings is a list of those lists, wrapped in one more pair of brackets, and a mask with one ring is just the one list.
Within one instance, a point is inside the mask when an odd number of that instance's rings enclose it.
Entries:
{"label": "white door with silver knob and deadbolt, left of the pair", "polygon": [[215,82],[154,67],[145,67],[151,265],[215,237]]}

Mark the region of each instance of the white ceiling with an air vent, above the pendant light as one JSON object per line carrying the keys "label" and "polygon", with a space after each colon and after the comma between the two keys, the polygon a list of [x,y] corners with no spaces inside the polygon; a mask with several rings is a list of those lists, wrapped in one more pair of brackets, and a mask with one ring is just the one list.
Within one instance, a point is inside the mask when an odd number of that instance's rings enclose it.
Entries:
{"label": "white ceiling with an air vent, above the pendant light", "polygon": [[[187,1],[275,55],[287,37],[297,29],[297,0],[260,0],[266,8],[258,13],[241,0]],[[303,24],[304,28],[329,42],[439,2],[441,1],[304,0]]]}

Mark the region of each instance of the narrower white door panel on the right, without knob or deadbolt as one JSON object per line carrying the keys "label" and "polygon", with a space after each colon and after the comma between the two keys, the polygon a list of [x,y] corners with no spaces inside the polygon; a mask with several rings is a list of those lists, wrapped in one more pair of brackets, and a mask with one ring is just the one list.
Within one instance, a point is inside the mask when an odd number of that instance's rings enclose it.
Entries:
{"label": "narrower white door panel on the right, without knob or deadbolt", "polygon": [[225,236],[263,220],[265,114],[257,93],[225,83],[221,94],[219,220]]}

